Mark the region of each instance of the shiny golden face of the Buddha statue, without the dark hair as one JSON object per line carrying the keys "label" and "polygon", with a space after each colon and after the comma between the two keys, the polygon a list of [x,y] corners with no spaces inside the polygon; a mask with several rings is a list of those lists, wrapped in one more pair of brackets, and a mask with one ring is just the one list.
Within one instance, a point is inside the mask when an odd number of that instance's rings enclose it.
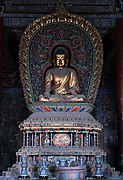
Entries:
{"label": "shiny golden face of the Buddha statue, without the dark hair", "polygon": [[56,54],[56,66],[64,67],[65,66],[65,54]]}

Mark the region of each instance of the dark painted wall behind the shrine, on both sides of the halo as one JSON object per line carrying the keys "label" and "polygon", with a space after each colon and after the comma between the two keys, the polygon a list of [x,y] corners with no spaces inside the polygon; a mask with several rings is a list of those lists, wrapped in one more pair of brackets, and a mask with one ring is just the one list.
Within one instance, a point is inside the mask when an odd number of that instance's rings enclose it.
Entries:
{"label": "dark painted wall behind the shrine, on both sides of the halo", "polygon": [[[108,161],[118,167],[116,115],[116,20],[123,17],[123,7],[116,0],[63,0],[65,9],[89,20],[100,32],[104,44],[104,66],[93,112],[104,126],[104,149]],[[30,112],[26,108],[19,76],[18,49],[24,29],[35,18],[50,14],[57,0],[7,0],[0,2],[3,19],[3,58],[1,56],[0,171],[15,162],[21,138],[18,125]],[[2,28],[2,26],[0,27]],[[2,40],[2,39],[1,39]]]}

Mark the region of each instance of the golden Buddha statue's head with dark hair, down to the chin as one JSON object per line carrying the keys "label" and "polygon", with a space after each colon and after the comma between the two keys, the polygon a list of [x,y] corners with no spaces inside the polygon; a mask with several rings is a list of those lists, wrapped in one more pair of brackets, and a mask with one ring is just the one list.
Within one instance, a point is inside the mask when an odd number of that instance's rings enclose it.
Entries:
{"label": "golden Buddha statue's head with dark hair, down to the chin", "polygon": [[53,63],[55,67],[68,66],[68,50],[65,47],[59,46],[53,50]]}

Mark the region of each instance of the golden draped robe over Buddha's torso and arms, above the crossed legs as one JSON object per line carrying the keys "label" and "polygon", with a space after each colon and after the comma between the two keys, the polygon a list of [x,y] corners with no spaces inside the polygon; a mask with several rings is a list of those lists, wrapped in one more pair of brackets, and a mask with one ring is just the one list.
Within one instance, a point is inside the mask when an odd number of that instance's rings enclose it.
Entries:
{"label": "golden draped robe over Buddha's torso and arms, above the crossed legs", "polygon": [[45,89],[48,89],[52,94],[70,94],[69,90],[73,89],[80,92],[78,80],[75,70],[71,68],[53,68],[48,70],[45,79]]}

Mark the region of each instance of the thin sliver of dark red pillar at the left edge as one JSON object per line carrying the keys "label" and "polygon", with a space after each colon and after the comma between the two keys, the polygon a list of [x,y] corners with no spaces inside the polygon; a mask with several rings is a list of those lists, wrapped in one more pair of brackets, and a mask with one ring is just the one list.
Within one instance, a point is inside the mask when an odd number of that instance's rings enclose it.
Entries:
{"label": "thin sliver of dark red pillar at the left edge", "polygon": [[3,67],[3,18],[0,17],[0,99],[2,89],[2,67]]}

